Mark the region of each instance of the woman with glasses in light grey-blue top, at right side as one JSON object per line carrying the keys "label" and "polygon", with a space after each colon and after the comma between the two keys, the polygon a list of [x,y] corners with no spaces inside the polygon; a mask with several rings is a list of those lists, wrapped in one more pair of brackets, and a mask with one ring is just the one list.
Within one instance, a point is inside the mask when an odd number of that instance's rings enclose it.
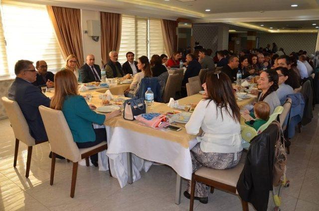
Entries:
{"label": "woman with glasses in light grey-blue top, at right side", "polygon": [[283,105],[287,99],[287,95],[294,94],[294,89],[287,83],[290,81],[289,79],[289,70],[285,67],[277,67],[275,69],[278,73],[278,85],[279,88],[276,90],[278,98],[280,100],[281,105]]}

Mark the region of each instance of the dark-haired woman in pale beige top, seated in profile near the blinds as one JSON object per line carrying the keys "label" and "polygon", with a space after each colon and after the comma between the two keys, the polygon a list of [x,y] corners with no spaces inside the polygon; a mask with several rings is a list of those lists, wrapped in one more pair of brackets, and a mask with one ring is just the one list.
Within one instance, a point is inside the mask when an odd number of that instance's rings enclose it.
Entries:
{"label": "dark-haired woman in pale beige top, seated in profile near the blinds", "polygon": [[125,91],[125,97],[133,98],[139,90],[141,80],[143,78],[151,78],[152,71],[149,58],[147,56],[141,56],[138,60],[138,68],[141,72],[134,75],[134,79],[130,87]]}

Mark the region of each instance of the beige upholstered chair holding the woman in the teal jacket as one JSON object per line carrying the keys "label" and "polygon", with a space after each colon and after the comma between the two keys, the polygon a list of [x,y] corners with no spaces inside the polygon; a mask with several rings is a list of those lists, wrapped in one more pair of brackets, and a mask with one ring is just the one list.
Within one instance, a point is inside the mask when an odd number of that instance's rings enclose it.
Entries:
{"label": "beige upholstered chair holding the woman in the teal jacket", "polygon": [[73,140],[71,130],[61,110],[54,110],[45,106],[39,106],[39,110],[46,133],[50,140],[50,147],[52,151],[50,185],[53,185],[55,155],[58,154],[73,162],[70,194],[70,197],[73,198],[75,192],[78,162],[84,158],[88,158],[91,155],[106,150],[107,143],[106,141],[103,141],[96,146],[79,149]]}

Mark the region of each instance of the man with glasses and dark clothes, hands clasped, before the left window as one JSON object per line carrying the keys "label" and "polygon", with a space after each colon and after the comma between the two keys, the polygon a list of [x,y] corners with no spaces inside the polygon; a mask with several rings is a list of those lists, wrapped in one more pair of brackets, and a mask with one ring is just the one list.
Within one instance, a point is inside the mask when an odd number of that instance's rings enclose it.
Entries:
{"label": "man with glasses and dark clothes, hands clasped, before the left window", "polygon": [[54,87],[54,74],[48,72],[48,66],[46,62],[43,60],[37,61],[36,69],[38,70],[36,74],[36,80],[32,84],[39,88],[42,86],[47,86],[47,88]]}

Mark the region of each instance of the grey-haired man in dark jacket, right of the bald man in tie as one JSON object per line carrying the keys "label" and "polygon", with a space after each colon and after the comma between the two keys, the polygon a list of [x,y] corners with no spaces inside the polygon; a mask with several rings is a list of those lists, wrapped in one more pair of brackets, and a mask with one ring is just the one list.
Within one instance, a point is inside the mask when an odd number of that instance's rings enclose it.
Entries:
{"label": "grey-haired man in dark jacket, right of the bald man in tie", "polygon": [[118,56],[119,54],[116,51],[111,51],[109,53],[110,60],[105,65],[105,72],[107,78],[121,78],[124,76],[122,71],[122,66],[120,62],[118,62]]}

